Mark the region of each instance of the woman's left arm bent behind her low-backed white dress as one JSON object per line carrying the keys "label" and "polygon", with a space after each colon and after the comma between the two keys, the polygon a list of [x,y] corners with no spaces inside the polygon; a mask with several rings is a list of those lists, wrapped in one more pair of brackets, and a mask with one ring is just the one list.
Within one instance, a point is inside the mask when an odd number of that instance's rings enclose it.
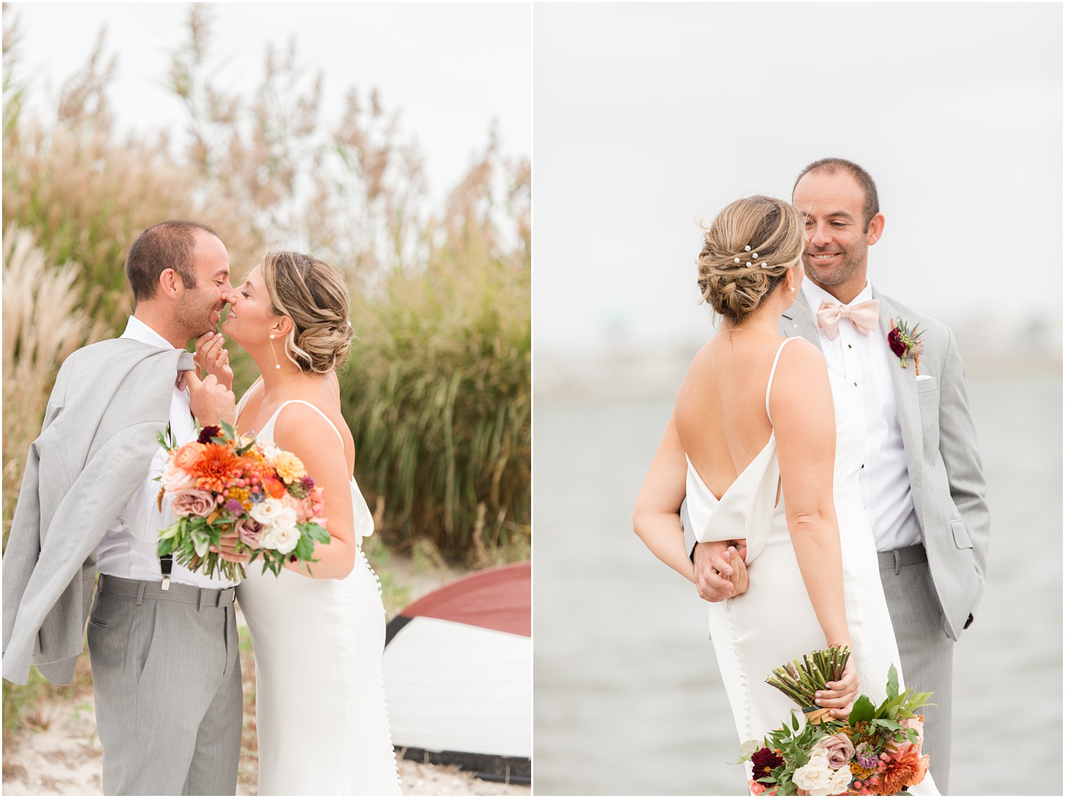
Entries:
{"label": "woman's left arm bent behind her low-backed white dress", "polygon": [[[685,579],[694,582],[700,588],[700,595],[707,600],[720,600],[734,595],[735,586],[717,572],[709,570],[706,582],[697,580],[691,559],[684,545],[684,533],[681,530],[681,502],[684,501],[688,464],[684,456],[684,447],[676,433],[673,414],[670,414],[666,425],[666,434],[658,445],[651,468],[643,480],[640,495],[636,498],[633,510],[633,530],[651,549],[652,553],[666,565],[673,568]],[[724,544],[722,549],[727,551]],[[735,549],[731,556],[739,561]],[[719,563],[722,570],[732,571],[724,562]],[[740,567],[742,565],[740,564]]]}

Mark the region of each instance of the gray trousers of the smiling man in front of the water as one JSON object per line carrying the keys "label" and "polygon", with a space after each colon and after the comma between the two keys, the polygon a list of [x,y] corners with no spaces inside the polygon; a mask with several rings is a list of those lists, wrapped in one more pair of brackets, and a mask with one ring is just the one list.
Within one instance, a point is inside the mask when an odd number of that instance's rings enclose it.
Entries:
{"label": "gray trousers of the smiling man in front of the water", "polygon": [[947,795],[954,641],[945,631],[924,547],[918,544],[880,552],[880,580],[899,644],[906,687],[933,694],[929,700],[935,706],[918,710],[924,716],[922,752],[931,758],[929,766],[936,786]]}

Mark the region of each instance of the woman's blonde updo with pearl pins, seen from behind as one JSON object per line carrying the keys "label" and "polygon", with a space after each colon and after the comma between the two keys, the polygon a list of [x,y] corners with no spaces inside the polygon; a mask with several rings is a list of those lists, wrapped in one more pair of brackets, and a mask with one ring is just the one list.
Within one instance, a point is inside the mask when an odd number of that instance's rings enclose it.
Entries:
{"label": "woman's blonde updo with pearl pins, seen from behind", "polygon": [[799,263],[804,242],[802,215],[791,204],[763,196],[736,200],[703,234],[697,261],[703,301],[742,323]]}

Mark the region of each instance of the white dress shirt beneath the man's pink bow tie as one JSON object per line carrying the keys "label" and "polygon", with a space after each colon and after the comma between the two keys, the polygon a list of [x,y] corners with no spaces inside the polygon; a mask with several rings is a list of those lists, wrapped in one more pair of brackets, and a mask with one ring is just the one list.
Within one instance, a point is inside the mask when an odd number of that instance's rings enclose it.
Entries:
{"label": "white dress shirt beneath the man's pink bow tie", "polygon": [[[840,304],[826,290],[806,279],[802,293],[812,314],[828,300]],[[872,299],[872,287],[865,288],[850,304]],[[816,318],[816,316],[815,316]],[[866,412],[869,435],[859,482],[878,551],[890,551],[921,543],[921,528],[910,493],[906,452],[899,426],[899,405],[891,383],[891,368],[899,368],[887,346],[887,330],[876,329],[863,335],[849,319],[839,320],[833,340],[818,328],[821,351],[829,369],[857,387]]]}

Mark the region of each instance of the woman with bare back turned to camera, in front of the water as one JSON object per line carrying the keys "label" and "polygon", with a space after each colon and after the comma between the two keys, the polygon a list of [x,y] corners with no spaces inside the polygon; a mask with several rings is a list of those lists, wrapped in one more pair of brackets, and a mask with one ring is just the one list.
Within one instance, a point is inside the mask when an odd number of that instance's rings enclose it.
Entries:
{"label": "woman with bare back turned to camera, in front of the water", "polygon": [[[651,551],[693,582],[682,500],[699,541],[731,544],[715,564],[734,598],[709,604],[710,637],[740,742],[789,717],[764,679],[815,649],[853,652],[818,699],[835,717],[859,693],[881,702],[891,664],[902,684],[858,486],[861,399],[817,347],[777,333],[803,246],[799,212],[769,197],[733,202],[706,231],[699,285],[721,331],[691,363],[634,512]],[[931,776],[911,789],[936,794]]]}

